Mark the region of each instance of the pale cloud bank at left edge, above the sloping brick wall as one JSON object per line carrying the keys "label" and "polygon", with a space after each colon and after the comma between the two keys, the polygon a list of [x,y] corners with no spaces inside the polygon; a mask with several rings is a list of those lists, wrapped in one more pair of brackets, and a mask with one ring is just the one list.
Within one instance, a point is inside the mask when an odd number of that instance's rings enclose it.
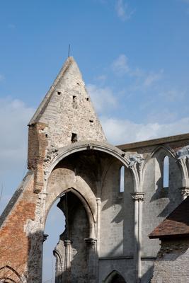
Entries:
{"label": "pale cloud bank at left edge, above the sloping brick wall", "polygon": [[[27,159],[28,121],[33,115],[21,100],[0,98],[0,213],[23,178]],[[11,178],[10,178],[11,174]]]}

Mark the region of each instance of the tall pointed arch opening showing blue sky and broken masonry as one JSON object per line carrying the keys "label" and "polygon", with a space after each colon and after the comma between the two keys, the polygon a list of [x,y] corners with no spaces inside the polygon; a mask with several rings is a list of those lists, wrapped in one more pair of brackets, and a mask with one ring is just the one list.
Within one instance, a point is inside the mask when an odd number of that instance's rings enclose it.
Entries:
{"label": "tall pointed arch opening showing blue sky and broken masonry", "polygon": [[78,278],[84,278],[86,282],[91,276],[87,270],[88,262],[91,262],[88,258],[92,256],[86,253],[86,247],[91,245],[87,209],[71,191],[60,197],[57,207],[59,209],[53,205],[45,226],[45,234],[52,233],[44,243],[42,282],[77,282]]}

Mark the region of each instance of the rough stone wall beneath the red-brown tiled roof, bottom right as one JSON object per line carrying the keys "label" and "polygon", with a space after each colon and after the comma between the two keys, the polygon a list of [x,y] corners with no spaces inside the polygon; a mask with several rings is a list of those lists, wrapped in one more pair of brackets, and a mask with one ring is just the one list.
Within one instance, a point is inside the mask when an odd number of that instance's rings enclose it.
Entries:
{"label": "rough stone wall beneath the red-brown tiled roof, bottom right", "polygon": [[163,240],[159,256],[154,262],[154,275],[151,283],[189,282],[188,266],[189,240]]}

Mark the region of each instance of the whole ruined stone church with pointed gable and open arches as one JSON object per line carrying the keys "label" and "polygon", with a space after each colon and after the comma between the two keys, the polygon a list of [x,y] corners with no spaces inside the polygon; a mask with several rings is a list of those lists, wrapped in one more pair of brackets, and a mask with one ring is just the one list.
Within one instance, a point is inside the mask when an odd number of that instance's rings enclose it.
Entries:
{"label": "whole ruined stone church with pointed gable and open arches", "polygon": [[109,144],[69,57],[28,123],[28,173],[0,220],[0,282],[42,282],[56,200],[56,283],[189,282],[188,144]]}

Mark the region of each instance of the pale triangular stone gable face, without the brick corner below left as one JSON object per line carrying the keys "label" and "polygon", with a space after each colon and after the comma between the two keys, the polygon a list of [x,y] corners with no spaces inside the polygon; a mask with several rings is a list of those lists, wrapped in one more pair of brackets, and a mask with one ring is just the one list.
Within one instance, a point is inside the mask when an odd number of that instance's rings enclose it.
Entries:
{"label": "pale triangular stone gable face, without the brick corner below left", "polygon": [[81,72],[69,57],[29,125],[42,123],[48,146],[60,148],[75,141],[105,141]]}

